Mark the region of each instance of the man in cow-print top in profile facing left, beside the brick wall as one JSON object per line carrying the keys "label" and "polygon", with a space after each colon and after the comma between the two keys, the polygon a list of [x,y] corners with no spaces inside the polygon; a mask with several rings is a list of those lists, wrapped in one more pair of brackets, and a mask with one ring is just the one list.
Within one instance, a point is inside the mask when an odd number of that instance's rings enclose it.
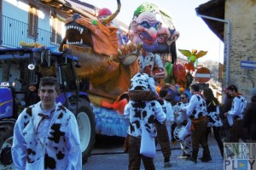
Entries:
{"label": "man in cow-print top in profile facing left, beside the brick wall", "polygon": [[227,116],[230,123],[230,142],[239,142],[239,139],[243,139],[243,111],[247,106],[247,100],[238,92],[235,85],[230,85],[228,93],[234,97],[231,110],[224,113]]}

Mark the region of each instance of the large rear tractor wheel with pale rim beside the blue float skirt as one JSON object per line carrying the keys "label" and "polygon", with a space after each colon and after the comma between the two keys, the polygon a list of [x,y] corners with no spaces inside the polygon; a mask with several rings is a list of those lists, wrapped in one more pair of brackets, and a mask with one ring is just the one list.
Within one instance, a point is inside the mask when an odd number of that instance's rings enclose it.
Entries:
{"label": "large rear tractor wheel with pale rim beside the blue float skirt", "polygon": [[76,113],[79,125],[80,143],[83,163],[87,161],[93,150],[96,137],[95,115],[91,111],[90,103],[86,99],[79,99],[79,111]]}

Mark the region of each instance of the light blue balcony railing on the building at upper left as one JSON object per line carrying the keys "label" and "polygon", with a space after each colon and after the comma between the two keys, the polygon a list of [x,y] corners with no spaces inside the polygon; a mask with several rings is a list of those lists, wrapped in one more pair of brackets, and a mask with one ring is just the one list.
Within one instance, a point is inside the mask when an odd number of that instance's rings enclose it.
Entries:
{"label": "light blue balcony railing on the building at upper left", "polygon": [[[38,42],[46,47],[56,47],[55,51],[57,51],[60,44],[53,41],[55,41],[55,37],[61,38],[60,36],[56,36],[50,31],[38,28],[38,30],[35,31],[37,32],[36,36],[29,37],[28,28],[28,24],[2,15],[2,32],[0,32],[2,34],[2,39],[0,46],[16,48],[20,47],[21,41],[27,43]],[[58,42],[61,42],[61,40]]]}

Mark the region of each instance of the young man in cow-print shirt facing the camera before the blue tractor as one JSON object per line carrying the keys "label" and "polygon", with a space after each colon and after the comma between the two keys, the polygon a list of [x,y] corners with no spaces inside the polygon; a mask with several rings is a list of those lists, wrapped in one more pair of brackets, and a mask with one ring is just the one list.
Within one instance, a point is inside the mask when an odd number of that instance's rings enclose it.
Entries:
{"label": "young man in cow-print shirt facing the camera before the blue tractor", "polygon": [[56,104],[55,77],[40,79],[38,104],[20,113],[15,123],[12,156],[17,169],[82,169],[76,118]]}

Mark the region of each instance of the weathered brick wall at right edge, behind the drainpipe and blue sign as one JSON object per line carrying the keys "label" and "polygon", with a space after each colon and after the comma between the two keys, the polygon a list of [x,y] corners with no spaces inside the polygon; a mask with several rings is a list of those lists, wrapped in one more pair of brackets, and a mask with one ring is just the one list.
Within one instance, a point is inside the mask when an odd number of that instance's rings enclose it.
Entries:
{"label": "weathered brick wall at right edge, behind the drainpipe and blue sign", "polygon": [[[226,50],[224,48],[223,88],[235,84],[238,90],[250,100],[249,92],[256,88],[256,68],[241,68],[241,60],[256,62],[256,1],[226,0],[225,19],[230,20],[230,81],[226,82]],[[225,25],[224,42],[227,41]]]}

